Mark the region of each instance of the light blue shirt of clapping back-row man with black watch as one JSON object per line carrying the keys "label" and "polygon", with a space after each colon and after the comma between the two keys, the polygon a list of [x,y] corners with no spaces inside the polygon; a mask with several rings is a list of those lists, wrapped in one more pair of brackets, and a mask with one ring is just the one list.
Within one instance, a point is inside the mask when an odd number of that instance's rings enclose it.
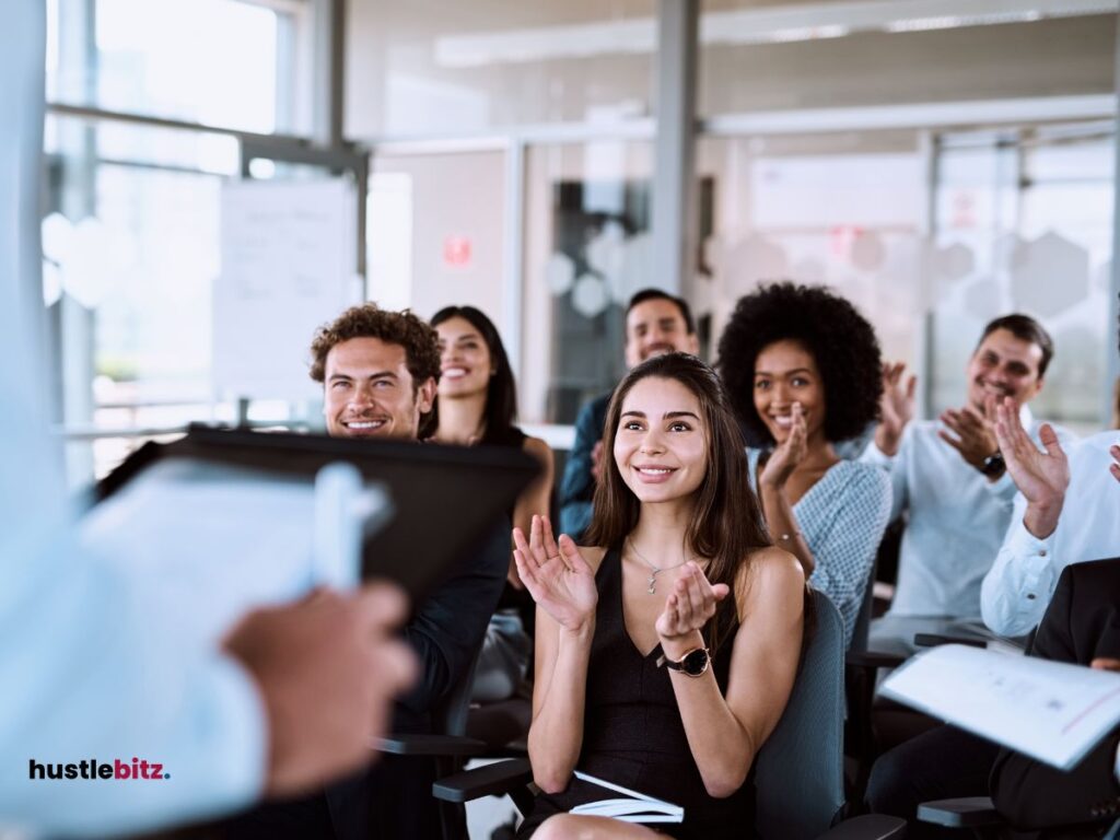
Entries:
{"label": "light blue shirt of clapping back-row man with black watch", "polygon": [[[1026,405],[1023,424],[1038,439]],[[1015,484],[1006,473],[988,480],[937,437],[939,421],[906,427],[897,455],[872,442],[862,460],[890,473],[892,520],[905,511],[906,531],[889,616],[980,618],[980,585],[1011,521]],[[1073,437],[1058,430],[1063,442]]]}

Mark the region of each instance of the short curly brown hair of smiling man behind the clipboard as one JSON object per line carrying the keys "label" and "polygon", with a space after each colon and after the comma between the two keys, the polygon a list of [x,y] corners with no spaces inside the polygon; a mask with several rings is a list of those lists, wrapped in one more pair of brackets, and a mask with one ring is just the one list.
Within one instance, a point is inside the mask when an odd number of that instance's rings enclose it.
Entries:
{"label": "short curly brown hair of smiling man behind the clipboard", "polygon": [[391,312],[376,304],[352,306],[315,332],[311,340],[311,379],[326,377],[327,354],[351,338],[380,338],[404,348],[404,364],[412,375],[413,391],[429,379],[439,381],[439,336],[424,320],[408,309]]}

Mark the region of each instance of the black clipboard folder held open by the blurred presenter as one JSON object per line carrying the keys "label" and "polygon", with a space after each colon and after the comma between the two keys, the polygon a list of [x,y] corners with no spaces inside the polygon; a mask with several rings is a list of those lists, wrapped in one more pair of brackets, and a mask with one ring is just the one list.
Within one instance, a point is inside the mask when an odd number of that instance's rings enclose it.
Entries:
{"label": "black clipboard folder held open by the blurred presenter", "polygon": [[[520,449],[405,440],[351,440],[321,435],[194,426],[170,444],[149,442],[95,488],[110,498],[158,463],[205,461],[310,485],[324,466],[352,464],[375,484],[392,513],[367,533],[362,578],[389,578],[420,603],[463,558],[508,526],[517,495],[540,473]],[[388,521],[385,521],[388,520]]]}

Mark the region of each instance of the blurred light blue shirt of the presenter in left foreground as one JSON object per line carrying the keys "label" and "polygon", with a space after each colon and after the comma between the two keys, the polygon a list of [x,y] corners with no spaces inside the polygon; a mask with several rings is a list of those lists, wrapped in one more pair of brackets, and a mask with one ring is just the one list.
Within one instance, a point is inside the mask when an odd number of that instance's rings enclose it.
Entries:
{"label": "blurred light blue shirt of the presenter in left foreground", "polygon": [[[0,3],[0,833],[103,836],[249,804],[267,744],[242,669],[75,545],[64,511],[39,280],[44,13]],[[29,778],[31,760],[133,757],[169,777]]]}

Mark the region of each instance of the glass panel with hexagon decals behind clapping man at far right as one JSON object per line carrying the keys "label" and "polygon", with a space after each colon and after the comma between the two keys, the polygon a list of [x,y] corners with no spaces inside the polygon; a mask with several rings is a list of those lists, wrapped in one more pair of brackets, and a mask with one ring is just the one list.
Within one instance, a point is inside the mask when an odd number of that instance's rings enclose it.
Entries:
{"label": "glass panel with hexagon decals behind clapping man at far right", "polygon": [[1054,361],[1034,403],[1079,431],[1100,428],[1109,324],[1114,140],[1111,125],[952,134],[939,155],[932,403],[960,402],[983,324],[1025,311]]}

